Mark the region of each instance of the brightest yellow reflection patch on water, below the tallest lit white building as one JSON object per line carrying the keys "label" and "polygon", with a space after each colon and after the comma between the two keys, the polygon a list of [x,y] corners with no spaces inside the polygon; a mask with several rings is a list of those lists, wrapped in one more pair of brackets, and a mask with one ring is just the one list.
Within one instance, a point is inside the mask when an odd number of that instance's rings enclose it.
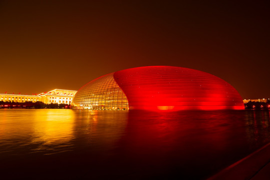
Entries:
{"label": "brightest yellow reflection patch on water, below the tallest lit white building", "polygon": [[66,151],[67,146],[71,146],[70,140],[74,137],[75,119],[72,110],[36,110],[34,118],[32,143],[42,142],[35,150],[50,149],[58,152],[63,150],[61,147]]}

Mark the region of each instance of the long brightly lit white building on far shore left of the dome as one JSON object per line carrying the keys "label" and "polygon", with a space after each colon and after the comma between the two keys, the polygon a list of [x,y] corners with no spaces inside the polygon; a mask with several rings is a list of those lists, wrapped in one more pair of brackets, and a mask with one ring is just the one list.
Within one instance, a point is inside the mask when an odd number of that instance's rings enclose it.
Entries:
{"label": "long brightly lit white building on far shore left of the dome", "polygon": [[10,102],[37,102],[41,101],[44,103],[71,103],[76,90],[66,90],[66,89],[54,89],[48,92],[42,92],[36,95],[24,95],[24,94],[7,94],[0,93],[0,101],[10,101]]}

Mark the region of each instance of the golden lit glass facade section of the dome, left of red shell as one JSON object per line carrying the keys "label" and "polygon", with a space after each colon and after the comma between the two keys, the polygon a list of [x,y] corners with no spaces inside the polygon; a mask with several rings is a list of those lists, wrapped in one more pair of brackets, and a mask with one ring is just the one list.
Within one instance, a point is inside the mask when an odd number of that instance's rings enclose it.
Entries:
{"label": "golden lit glass facade section of the dome, left of red shell", "polygon": [[110,73],[82,86],[72,100],[72,108],[93,110],[128,110],[125,93]]}

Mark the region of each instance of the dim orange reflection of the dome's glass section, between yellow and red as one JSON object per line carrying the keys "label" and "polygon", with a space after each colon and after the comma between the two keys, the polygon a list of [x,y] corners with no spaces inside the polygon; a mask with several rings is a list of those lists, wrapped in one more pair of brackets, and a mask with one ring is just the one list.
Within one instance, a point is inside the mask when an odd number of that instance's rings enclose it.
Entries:
{"label": "dim orange reflection of the dome's glass section, between yellow and red", "polygon": [[128,111],[73,110],[74,148],[82,151],[102,151],[114,148],[123,135]]}

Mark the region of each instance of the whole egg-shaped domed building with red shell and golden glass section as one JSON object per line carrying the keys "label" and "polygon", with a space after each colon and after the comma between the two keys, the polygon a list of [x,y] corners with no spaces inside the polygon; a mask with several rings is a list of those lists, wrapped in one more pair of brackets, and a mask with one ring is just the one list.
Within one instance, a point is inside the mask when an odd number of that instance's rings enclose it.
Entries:
{"label": "whole egg-shaped domed building with red shell and golden glass section", "polygon": [[98,77],[75,94],[72,108],[100,110],[244,109],[225,80],[200,70],[145,66]]}

